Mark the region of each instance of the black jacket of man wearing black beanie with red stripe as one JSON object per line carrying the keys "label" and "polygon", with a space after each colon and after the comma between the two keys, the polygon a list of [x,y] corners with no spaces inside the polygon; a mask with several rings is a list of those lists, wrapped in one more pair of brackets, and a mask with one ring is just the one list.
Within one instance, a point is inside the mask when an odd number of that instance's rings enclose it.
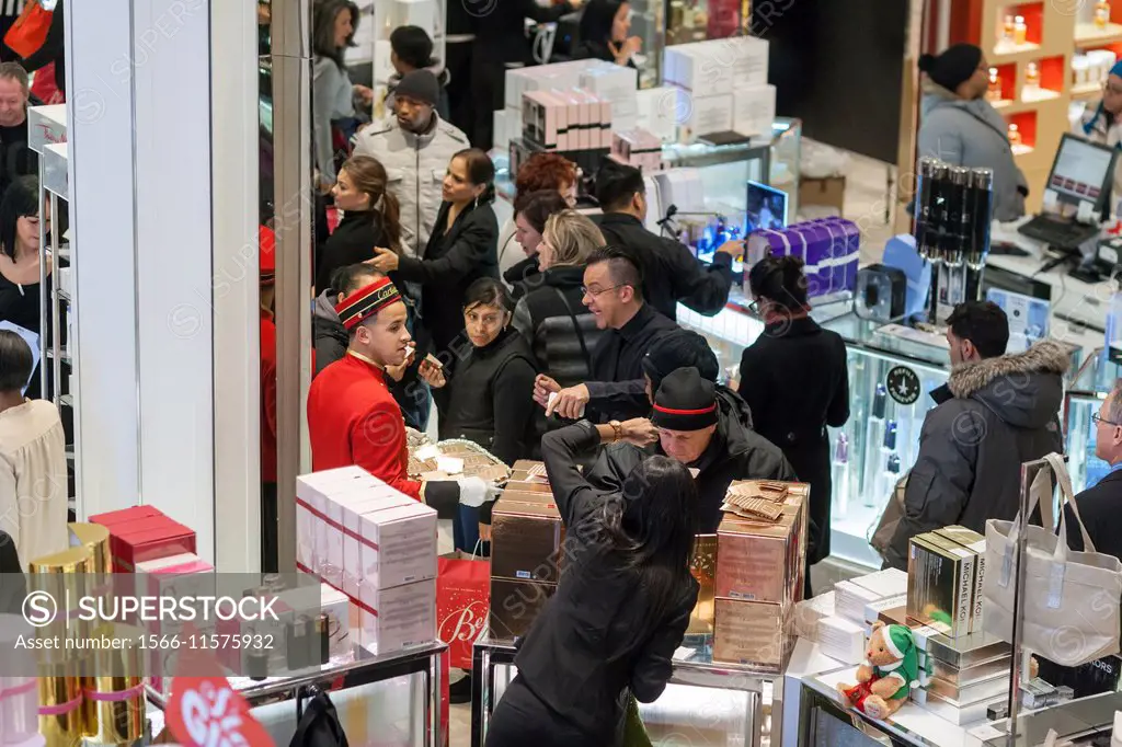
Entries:
{"label": "black jacket of man wearing black beanie with red stripe", "polygon": [[[720,419],[717,432],[701,458],[692,464],[698,473],[701,500],[698,532],[712,534],[720,524],[720,505],[733,480],[794,481],[794,470],[779,446],[752,430],[752,414],[741,396],[717,387]],[[600,451],[588,471],[588,481],[598,488],[619,490],[632,469],[652,454],[665,453],[654,444],[645,451],[627,443],[611,444]]]}

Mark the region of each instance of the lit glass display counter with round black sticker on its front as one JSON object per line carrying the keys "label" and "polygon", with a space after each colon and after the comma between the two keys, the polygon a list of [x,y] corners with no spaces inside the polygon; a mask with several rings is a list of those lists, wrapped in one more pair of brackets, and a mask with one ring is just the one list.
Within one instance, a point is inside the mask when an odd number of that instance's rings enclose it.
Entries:
{"label": "lit glass display counter with round black sticker on its front", "polygon": [[[678,321],[709,340],[725,379],[736,388],[741,354],[763,332],[734,289],[716,316],[679,306]],[[937,335],[911,333],[857,317],[850,302],[817,306],[811,315],[848,348],[849,421],[830,428],[834,492],[833,554],[870,568],[881,559],[868,546],[896,480],[916,462],[919,434],[935,406],[929,393],[947,380],[949,358]]]}

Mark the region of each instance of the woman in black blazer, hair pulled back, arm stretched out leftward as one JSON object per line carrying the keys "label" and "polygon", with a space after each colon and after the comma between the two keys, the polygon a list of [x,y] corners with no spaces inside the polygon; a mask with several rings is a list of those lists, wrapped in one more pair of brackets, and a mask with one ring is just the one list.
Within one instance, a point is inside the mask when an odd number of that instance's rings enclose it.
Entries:
{"label": "woman in black blazer, hair pulled back, arm stretched out leftward", "polygon": [[463,332],[463,297],[481,277],[498,277],[495,165],[478,148],[452,156],[444,175],[444,201],[423,257],[375,249],[383,273],[421,285],[419,352],[432,352],[450,374],[457,351],[471,349]]}

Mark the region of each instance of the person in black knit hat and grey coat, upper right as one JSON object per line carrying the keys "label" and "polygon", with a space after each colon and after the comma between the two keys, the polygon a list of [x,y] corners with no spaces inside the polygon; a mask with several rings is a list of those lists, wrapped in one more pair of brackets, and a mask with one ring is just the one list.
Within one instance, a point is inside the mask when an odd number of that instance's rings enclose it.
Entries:
{"label": "person in black knit hat and grey coat, upper right", "polygon": [[990,77],[982,49],[956,44],[938,56],[921,55],[919,68],[926,74],[919,157],[993,169],[993,216],[1004,222],[1024,215],[1029,183],[1013,159],[1004,118],[985,100]]}

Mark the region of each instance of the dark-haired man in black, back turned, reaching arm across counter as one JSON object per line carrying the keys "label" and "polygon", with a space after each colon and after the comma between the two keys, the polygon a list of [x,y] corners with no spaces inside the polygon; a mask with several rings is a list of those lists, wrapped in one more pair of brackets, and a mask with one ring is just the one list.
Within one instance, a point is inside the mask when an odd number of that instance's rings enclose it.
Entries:
{"label": "dark-haired man in black, back turned, reaching arm across counter", "polygon": [[604,215],[597,224],[609,245],[632,249],[642,262],[643,295],[664,316],[678,319],[678,302],[711,316],[728,303],[733,258],[743,252],[741,241],[729,241],[703,266],[686,245],[655,236],[643,227],[646,185],[637,168],[607,162],[596,175],[596,199]]}

